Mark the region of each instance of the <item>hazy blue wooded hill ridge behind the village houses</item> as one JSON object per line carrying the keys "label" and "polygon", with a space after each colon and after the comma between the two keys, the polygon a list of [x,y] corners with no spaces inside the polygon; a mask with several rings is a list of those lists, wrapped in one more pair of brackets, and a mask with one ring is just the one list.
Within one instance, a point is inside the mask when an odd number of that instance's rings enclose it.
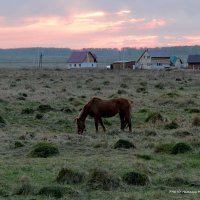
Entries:
{"label": "hazy blue wooded hill ridge behind the village houses", "polygon": [[[115,48],[88,48],[84,51],[92,51],[96,54],[98,62],[110,64],[118,60],[137,60],[145,48],[123,48],[121,50]],[[149,48],[149,50],[165,51],[169,55],[181,57],[185,62],[189,54],[200,54],[200,46],[177,46]],[[38,57],[42,53],[43,61],[47,64],[65,64],[70,54],[74,51],[69,48],[16,48],[16,49],[0,49],[0,67],[5,64],[23,63],[23,66],[35,66]]]}

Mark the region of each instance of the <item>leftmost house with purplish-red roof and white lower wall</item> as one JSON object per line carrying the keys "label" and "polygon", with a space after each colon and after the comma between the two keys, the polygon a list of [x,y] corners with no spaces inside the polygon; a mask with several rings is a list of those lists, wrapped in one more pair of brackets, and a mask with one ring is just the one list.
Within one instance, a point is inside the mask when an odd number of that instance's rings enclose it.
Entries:
{"label": "leftmost house with purplish-red roof and white lower wall", "polygon": [[67,60],[67,68],[95,68],[97,57],[90,51],[75,51]]}

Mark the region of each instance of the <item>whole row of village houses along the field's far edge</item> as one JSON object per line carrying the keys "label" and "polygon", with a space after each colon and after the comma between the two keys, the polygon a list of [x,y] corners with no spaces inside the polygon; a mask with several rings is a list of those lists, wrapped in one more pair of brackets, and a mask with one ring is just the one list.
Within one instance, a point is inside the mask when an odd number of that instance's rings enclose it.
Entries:
{"label": "whole row of village houses along the field's far edge", "polygon": [[[67,60],[67,68],[97,68],[98,57],[91,51],[74,51]],[[144,50],[137,60],[118,60],[107,69],[192,69],[200,70],[200,55],[188,55],[187,62],[160,50]]]}

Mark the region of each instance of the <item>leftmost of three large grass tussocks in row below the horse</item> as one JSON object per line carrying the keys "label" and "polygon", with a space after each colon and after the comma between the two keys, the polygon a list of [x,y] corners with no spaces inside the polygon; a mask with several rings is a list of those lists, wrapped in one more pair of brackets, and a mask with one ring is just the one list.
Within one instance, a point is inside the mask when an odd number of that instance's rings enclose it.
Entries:
{"label": "leftmost of three large grass tussocks in row below the horse", "polygon": [[67,184],[78,184],[85,180],[85,174],[74,171],[72,169],[63,168],[60,170],[56,182],[67,183]]}

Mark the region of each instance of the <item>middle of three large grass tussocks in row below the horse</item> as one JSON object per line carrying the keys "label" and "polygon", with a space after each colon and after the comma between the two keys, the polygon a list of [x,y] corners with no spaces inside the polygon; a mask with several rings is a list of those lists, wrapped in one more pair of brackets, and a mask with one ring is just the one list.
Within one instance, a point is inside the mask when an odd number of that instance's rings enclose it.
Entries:
{"label": "middle of three large grass tussocks in row below the horse", "polygon": [[120,186],[120,179],[106,171],[95,169],[89,174],[87,185],[92,189],[111,190]]}

